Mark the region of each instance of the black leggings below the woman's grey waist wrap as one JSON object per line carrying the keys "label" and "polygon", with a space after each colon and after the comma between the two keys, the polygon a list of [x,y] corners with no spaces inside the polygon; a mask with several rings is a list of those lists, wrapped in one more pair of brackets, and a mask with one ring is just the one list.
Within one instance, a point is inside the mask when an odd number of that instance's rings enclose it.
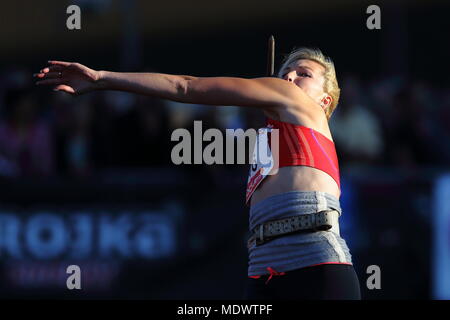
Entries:
{"label": "black leggings below the woman's grey waist wrap", "polygon": [[[361,300],[352,265],[322,264],[287,271],[285,275],[248,278],[247,300]],[[267,284],[266,284],[267,282]]]}

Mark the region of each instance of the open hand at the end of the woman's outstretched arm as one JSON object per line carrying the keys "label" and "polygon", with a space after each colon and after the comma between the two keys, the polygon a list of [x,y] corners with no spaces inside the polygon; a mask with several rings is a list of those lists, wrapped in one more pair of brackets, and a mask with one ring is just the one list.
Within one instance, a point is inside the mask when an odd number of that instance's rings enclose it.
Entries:
{"label": "open hand at the end of the woman's outstretched arm", "polygon": [[49,61],[50,66],[34,74],[37,85],[53,85],[54,91],[73,95],[83,94],[98,88],[100,72],[76,62]]}

